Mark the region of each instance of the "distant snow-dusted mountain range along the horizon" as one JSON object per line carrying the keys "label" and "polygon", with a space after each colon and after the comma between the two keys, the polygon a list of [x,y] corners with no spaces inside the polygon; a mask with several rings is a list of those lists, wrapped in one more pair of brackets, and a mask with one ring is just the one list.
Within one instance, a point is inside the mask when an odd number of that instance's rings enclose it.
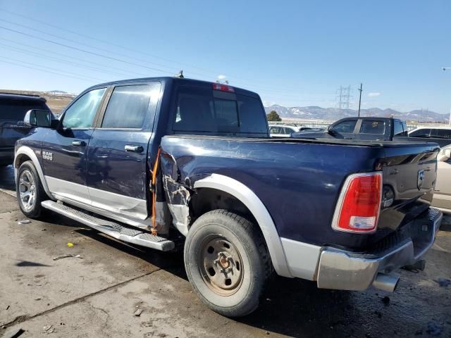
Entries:
{"label": "distant snow-dusted mountain range along the horizon", "polygon": [[[340,108],[321,108],[319,106],[307,107],[285,107],[273,104],[265,107],[266,113],[270,111],[277,111],[280,118],[297,118],[303,120],[339,120],[340,118],[347,118],[357,116],[357,111],[354,109],[340,109]],[[429,122],[429,123],[447,123],[448,114],[435,113],[434,111],[425,111],[416,109],[414,111],[400,112],[394,109],[386,108],[369,108],[361,109],[361,116],[374,116],[378,118],[388,118],[393,116],[406,121]]]}

